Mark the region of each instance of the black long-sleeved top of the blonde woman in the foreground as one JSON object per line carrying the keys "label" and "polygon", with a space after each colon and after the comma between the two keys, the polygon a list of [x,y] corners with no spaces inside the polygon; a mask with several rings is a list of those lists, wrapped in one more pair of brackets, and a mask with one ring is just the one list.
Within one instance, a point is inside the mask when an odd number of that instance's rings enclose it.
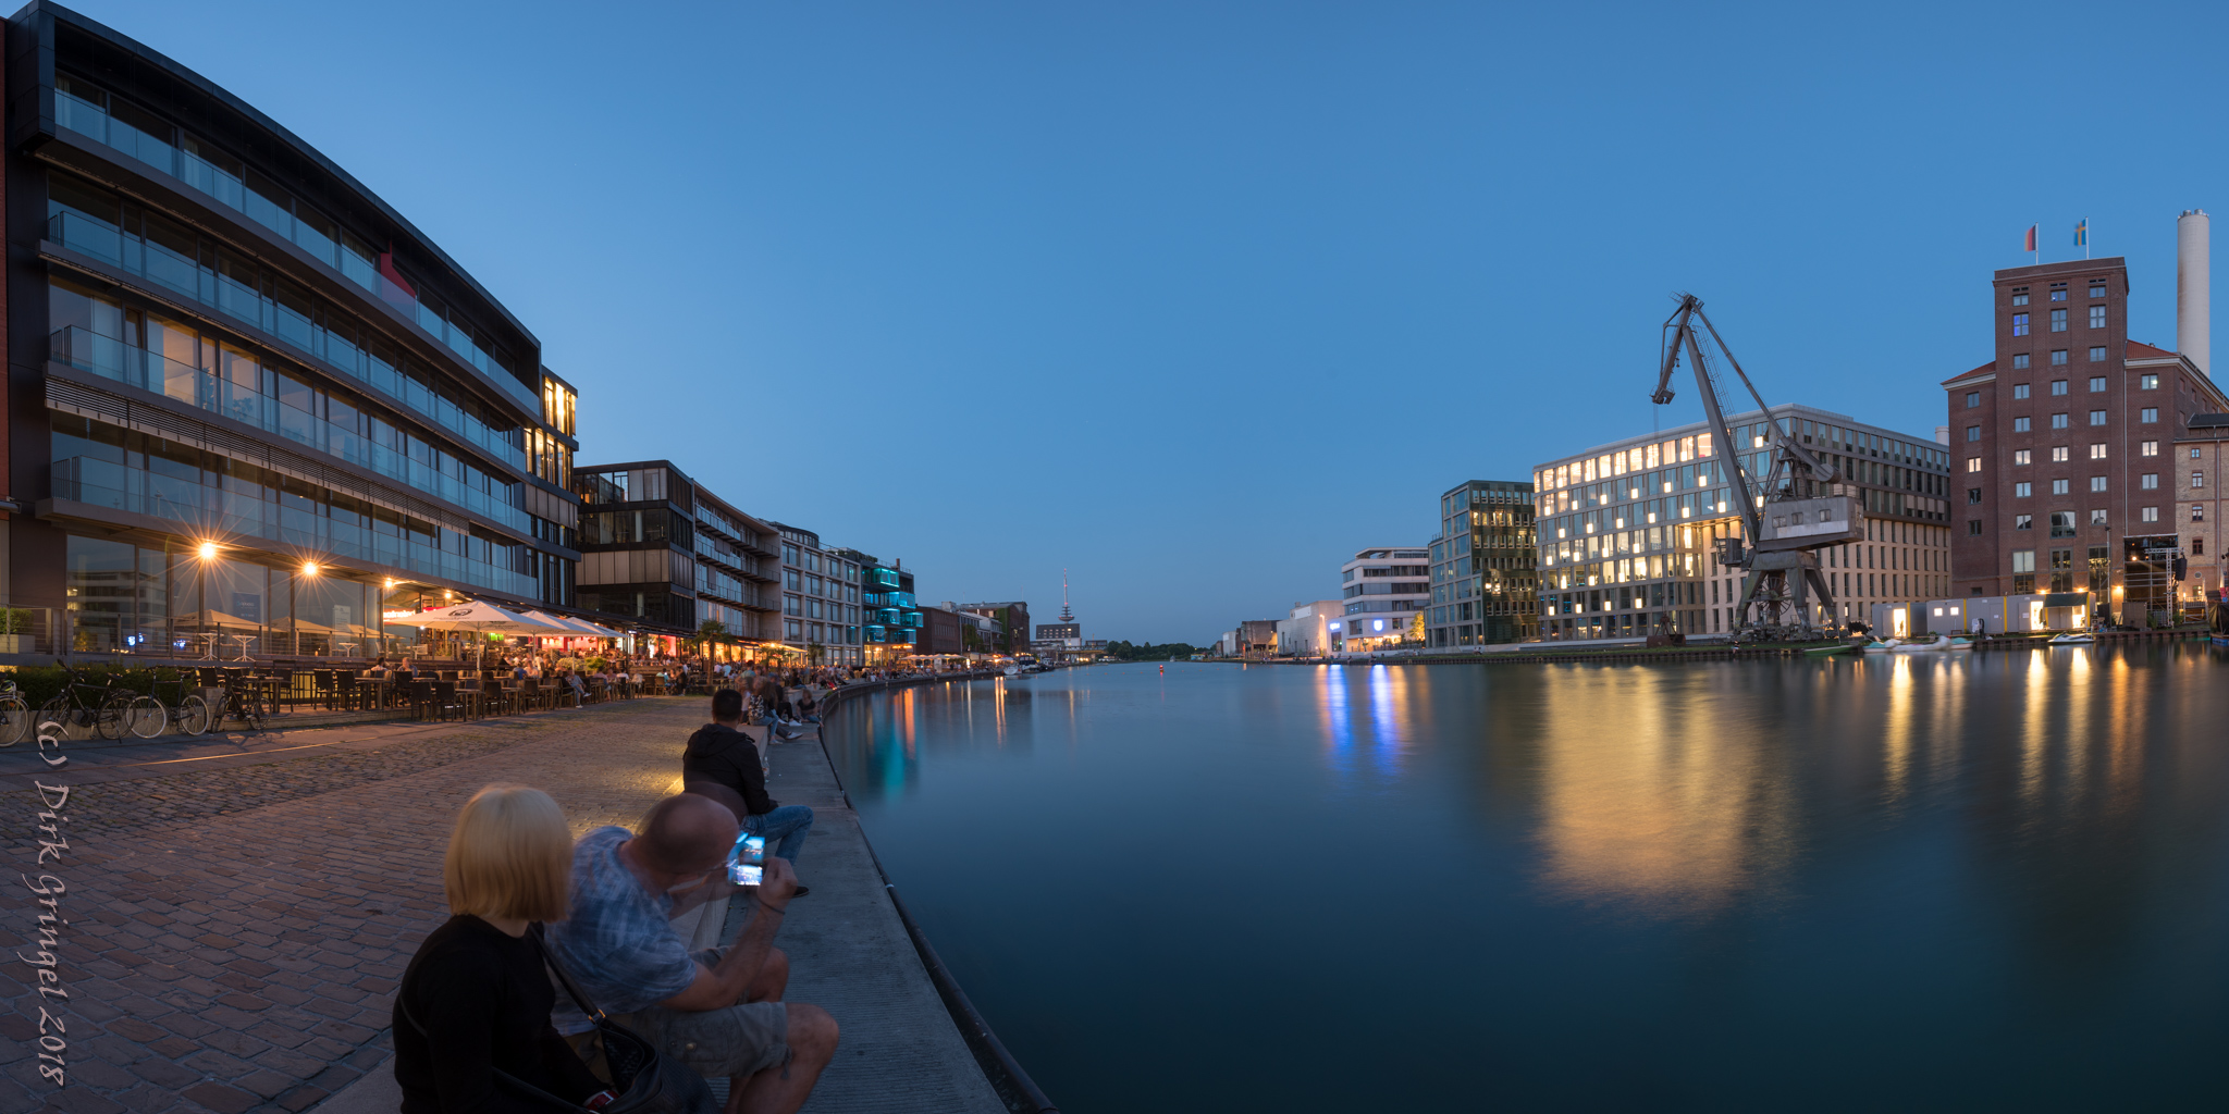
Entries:
{"label": "black long-sleeved top of the blonde woman in the foreground", "polygon": [[548,1112],[548,1103],[495,1083],[490,1067],[573,1103],[604,1089],[551,1027],[553,1005],[533,938],[510,938],[477,916],[448,918],[419,945],[395,996],[401,1114]]}

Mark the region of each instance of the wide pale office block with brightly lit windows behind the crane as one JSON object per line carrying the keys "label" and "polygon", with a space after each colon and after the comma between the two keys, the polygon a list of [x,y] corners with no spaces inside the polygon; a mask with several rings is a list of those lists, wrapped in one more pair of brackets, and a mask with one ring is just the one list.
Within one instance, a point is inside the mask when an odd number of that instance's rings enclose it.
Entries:
{"label": "wide pale office block with brightly lit windows behind the crane", "polygon": [[[1801,446],[1830,459],[1837,483],[1797,481],[1797,495],[1857,495],[1868,539],[1821,553],[1841,619],[1877,602],[1944,595],[1950,577],[1950,459],[1935,439],[1866,426],[1810,405],[1774,405]],[[1752,477],[1770,475],[1765,414],[1727,417]],[[1534,470],[1540,521],[1540,633],[1549,639],[1723,635],[1736,624],[1741,570],[1712,555],[1739,537],[1725,468],[1707,423],[1627,437]]]}

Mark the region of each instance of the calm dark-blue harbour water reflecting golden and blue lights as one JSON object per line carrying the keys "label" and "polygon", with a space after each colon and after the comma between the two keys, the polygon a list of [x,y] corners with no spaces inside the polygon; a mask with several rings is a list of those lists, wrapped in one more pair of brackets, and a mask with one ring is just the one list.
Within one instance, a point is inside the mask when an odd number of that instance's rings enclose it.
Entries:
{"label": "calm dark-blue harbour water reflecting golden and blue lights", "polygon": [[2225,682],[2193,644],[1097,666],[829,749],[1074,1114],[2220,1110]]}

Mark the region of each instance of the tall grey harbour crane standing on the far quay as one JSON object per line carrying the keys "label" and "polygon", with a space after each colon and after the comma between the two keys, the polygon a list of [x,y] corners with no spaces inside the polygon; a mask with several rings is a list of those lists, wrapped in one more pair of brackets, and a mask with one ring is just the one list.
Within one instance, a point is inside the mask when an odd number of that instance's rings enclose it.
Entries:
{"label": "tall grey harbour crane standing on the far quay", "polygon": [[[1701,328],[1701,332],[1696,332]],[[1719,403],[1719,374],[1705,356],[1703,334],[1710,348],[1725,356],[1741,385],[1765,414],[1765,430],[1772,439],[1772,468],[1759,481],[1743,463],[1761,443],[1736,446],[1725,428],[1725,408]],[[1734,488],[1734,504],[1741,508],[1741,537],[1716,539],[1716,559],[1723,566],[1741,568],[1741,606],[1734,610],[1736,642],[1810,642],[1839,626],[1834,617],[1834,588],[1819,573],[1819,550],[1846,541],[1866,539],[1866,510],[1855,495],[1839,495],[1834,466],[1826,457],[1812,455],[1790,430],[1774,419],[1772,408],[1750,383],[1734,350],[1719,336],[1710,316],[1703,316],[1703,299],[1681,294],[1678,310],[1665,319],[1661,374],[1656,377],[1656,405],[1672,401],[1672,372],[1678,370],[1681,352],[1694,368],[1694,385],[1703,397],[1703,412],[1710,417],[1710,434],[1723,446],[1719,452],[1732,463],[1725,477]],[[1759,439],[1761,441],[1761,439]],[[1832,486],[1832,488],[1830,488]],[[1817,613],[1812,610],[1817,595]]]}

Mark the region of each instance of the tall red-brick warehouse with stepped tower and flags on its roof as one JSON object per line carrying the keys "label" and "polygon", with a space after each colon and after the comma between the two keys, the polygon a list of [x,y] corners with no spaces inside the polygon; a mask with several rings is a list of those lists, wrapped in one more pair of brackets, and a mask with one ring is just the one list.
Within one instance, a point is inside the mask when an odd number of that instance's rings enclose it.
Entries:
{"label": "tall red-brick warehouse with stepped tower and flags on its roof", "polygon": [[2173,446],[2229,399],[2189,356],[2129,341],[2120,256],[1995,274],[1995,359],[1944,381],[1953,595],[2089,593],[2167,608]]}

